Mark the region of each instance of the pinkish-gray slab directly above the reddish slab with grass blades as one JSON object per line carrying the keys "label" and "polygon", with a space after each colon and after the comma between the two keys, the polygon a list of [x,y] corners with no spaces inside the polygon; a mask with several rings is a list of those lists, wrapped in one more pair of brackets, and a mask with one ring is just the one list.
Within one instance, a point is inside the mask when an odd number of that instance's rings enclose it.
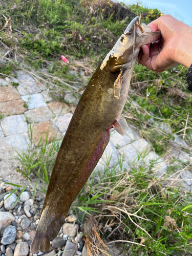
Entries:
{"label": "pinkish-gray slab directly above the reddish slab with grass blades", "polygon": [[27,117],[27,121],[29,123],[45,122],[45,121],[49,121],[51,118],[55,117],[55,115],[48,108],[48,106],[46,106],[45,108],[37,108],[37,109],[28,110],[25,112],[25,116]]}

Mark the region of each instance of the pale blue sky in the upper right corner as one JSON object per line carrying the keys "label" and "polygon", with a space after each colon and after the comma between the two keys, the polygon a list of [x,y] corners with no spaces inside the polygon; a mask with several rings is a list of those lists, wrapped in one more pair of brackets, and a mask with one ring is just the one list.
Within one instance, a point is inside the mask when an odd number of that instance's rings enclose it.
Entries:
{"label": "pale blue sky in the upper right corner", "polygon": [[[116,0],[117,1],[117,0]],[[115,1],[114,1],[115,2]],[[118,0],[118,2],[123,2],[125,5],[136,4],[136,0]],[[141,5],[148,8],[157,8],[163,14],[170,14],[181,20],[185,24],[192,27],[192,0],[161,0],[161,1],[151,1],[144,0],[139,1]]]}

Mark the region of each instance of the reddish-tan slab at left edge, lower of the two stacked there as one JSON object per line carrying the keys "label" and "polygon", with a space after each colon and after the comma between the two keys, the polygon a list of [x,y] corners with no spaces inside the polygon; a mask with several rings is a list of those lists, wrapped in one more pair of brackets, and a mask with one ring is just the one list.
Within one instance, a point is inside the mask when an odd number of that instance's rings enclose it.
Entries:
{"label": "reddish-tan slab at left edge, lower of the two stacked there", "polygon": [[25,102],[22,99],[1,102],[0,113],[3,113],[4,116],[23,114],[28,110],[24,108],[24,104]]}

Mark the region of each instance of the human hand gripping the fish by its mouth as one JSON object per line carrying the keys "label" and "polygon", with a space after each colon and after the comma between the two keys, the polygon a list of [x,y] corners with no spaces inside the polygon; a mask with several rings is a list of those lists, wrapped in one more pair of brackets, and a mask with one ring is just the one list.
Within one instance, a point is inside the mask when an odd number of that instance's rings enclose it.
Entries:
{"label": "human hand gripping the fish by its mouth", "polygon": [[170,15],[163,15],[147,25],[160,30],[161,39],[150,47],[141,47],[138,62],[155,72],[163,72],[177,62],[189,68],[192,63],[192,28]]}

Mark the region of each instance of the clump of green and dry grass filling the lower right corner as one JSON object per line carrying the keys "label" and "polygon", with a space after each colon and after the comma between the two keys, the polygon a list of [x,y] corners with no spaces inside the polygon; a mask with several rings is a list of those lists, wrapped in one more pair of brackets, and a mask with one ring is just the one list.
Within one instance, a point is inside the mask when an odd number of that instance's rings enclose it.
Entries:
{"label": "clump of green and dry grass filling the lower right corner", "polygon": [[102,179],[93,174],[73,207],[82,222],[92,212],[106,246],[121,244],[127,255],[185,255],[192,252],[190,193],[162,186],[152,166],[134,164],[123,174],[106,168]]}

